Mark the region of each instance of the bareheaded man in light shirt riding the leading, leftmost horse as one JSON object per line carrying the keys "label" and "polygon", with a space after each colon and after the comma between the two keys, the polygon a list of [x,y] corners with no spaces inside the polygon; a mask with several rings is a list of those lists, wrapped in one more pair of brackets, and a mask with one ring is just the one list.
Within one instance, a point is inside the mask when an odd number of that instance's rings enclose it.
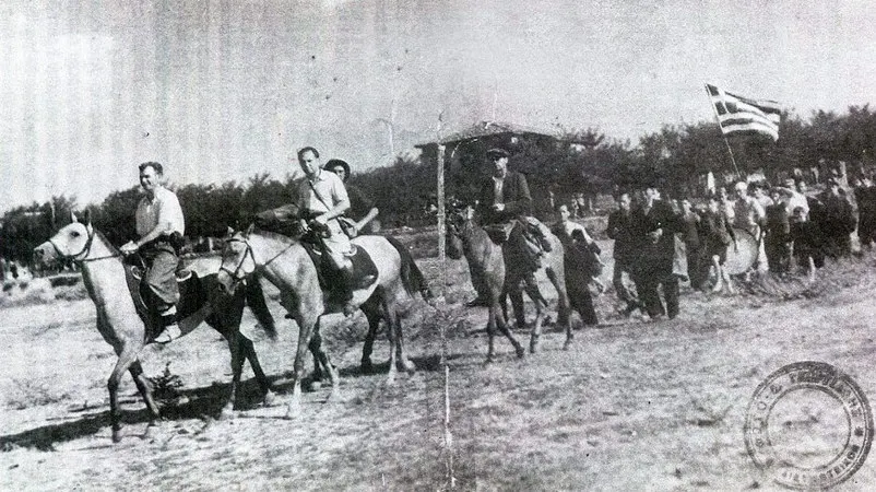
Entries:
{"label": "bareheaded man in light shirt riding the leading, leftmost horse", "polygon": [[123,255],[140,251],[146,263],[143,282],[152,294],[146,302],[155,307],[164,323],[164,330],[155,341],[168,343],[182,335],[176,319],[179,286],[175,272],[179,266],[186,220],[176,194],[164,187],[162,165],[145,162],[139,168],[144,197],[137,206],[134,221],[140,238],[129,241],[119,249]]}

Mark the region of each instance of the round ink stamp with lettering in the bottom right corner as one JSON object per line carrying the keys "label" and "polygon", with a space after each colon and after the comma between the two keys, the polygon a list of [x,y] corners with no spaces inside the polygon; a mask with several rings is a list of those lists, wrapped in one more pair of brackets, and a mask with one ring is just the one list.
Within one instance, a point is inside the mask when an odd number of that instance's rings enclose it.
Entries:
{"label": "round ink stamp with lettering in the bottom right corner", "polygon": [[873,412],[847,374],[824,362],[795,362],[758,385],[744,434],[748,455],[777,483],[826,489],[864,465]]}

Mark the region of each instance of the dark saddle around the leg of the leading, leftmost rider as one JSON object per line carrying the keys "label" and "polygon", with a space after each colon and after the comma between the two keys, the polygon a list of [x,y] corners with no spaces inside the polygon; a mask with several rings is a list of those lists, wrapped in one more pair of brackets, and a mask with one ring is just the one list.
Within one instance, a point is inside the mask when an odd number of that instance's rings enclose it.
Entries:
{"label": "dark saddle around the leg of the leading, leftmost rider", "polygon": [[[138,261],[137,259],[133,261]],[[126,260],[125,265],[125,279],[128,282],[128,291],[137,307],[137,314],[146,326],[149,339],[156,337],[163,329],[164,324],[161,315],[155,307],[155,296],[149,288],[149,284],[143,281],[145,267]],[[206,303],[206,296],[201,285],[201,278],[197,272],[180,268],[176,271],[176,280],[179,286],[179,303],[177,303],[177,319],[184,319],[203,307]]]}

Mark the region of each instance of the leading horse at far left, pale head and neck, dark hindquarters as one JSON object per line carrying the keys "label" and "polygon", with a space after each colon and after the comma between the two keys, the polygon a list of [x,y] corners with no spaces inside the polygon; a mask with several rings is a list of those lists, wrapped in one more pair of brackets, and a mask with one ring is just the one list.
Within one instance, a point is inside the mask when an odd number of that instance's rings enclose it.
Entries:
{"label": "leading horse at far left, pale head and neck, dark hindquarters", "polygon": [[[150,410],[150,426],[155,425],[161,419],[161,413],[138,356],[143,347],[151,343],[157,333],[147,329],[138,314],[138,307],[129,291],[128,273],[126,273],[128,267],[123,265],[121,254],[103,234],[94,230],[90,222],[79,223],[73,216],[73,223],[62,227],[49,241],[37,246],[34,256],[43,265],[58,260],[73,260],[81,266],[88,296],[97,308],[97,330],[118,355],[107,383],[113,441],[121,441],[118,388],[126,372],[133,377],[137,389]],[[187,260],[186,267],[199,274],[200,294],[202,298],[210,301],[192,315],[181,319],[180,329],[184,333],[189,333],[206,320],[227,340],[232,352],[232,386],[221,417],[228,415],[234,408],[245,360],[252,366],[256,378],[264,390],[265,400],[270,400],[272,398],[270,383],[259,364],[252,341],[239,331],[244,305],[249,302],[250,309],[262,328],[272,338],[275,336],[274,319],[264,304],[261,286],[258,282],[248,282],[248,292],[240,292],[235,296],[213,295],[216,292],[218,259]]]}

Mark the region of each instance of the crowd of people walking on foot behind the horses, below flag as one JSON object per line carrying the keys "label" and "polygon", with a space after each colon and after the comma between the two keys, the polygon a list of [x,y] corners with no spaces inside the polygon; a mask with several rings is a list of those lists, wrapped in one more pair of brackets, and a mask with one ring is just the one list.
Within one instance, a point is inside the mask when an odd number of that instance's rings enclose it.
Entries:
{"label": "crowd of people walking on foot behind the horses, below flag", "polygon": [[[623,314],[640,309],[654,320],[676,317],[684,281],[695,291],[734,294],[732,273],[748,280],[755,272],[803,272],[814,280],[826,258],[852,255],[855,231],[862,248],[872,247],[876,185],[871,177],[845,183],[832,175],[816,194],[804,180],[739,181],[732,192],[717,188],[698,200],[664,200],[655,186],[616,192],[606,233],[614,239],[612,283],[625,304]],[[727,255],[739,248],[756,249],[747,251],[756,259],[743,273],[731,272]]]}

